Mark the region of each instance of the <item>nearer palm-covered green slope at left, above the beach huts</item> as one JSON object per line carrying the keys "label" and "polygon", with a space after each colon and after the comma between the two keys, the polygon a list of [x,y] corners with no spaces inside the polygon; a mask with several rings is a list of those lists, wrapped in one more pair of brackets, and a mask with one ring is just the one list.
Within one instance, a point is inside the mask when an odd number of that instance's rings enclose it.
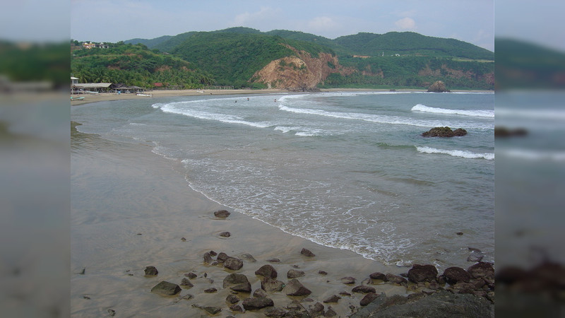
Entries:
{"label": "nearer palm-covered green slope at left, above the beach huts", "polygon": [[200,88],[213,83],[213,78],[193,66],[179,57],[151,51],[145,45],[123,42],[108,49],[77,49],[71,59],[71,73],[81,83],[124,83],[145,88],[153,87],[153,83],[179,88]]}

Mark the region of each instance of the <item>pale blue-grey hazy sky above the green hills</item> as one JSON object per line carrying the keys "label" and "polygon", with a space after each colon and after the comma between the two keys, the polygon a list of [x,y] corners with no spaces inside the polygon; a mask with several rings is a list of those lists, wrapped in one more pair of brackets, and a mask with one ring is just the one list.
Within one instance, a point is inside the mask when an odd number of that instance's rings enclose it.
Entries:
{"label": "pale blue-grey hazy sky above the green hills", "polygon": [[71,0],[71,38],[118,42],[244,26],[334,39],[413,31],[494,50],[493,0]]}

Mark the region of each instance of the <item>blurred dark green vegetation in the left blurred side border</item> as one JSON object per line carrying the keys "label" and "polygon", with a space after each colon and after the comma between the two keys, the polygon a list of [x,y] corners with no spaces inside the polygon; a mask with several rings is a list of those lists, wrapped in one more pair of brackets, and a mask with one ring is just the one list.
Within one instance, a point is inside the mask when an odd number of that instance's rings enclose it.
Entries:
{"label": "blurred dark green vegetation in the left blurred side border", "polygon": [[10,81],[49,81],[56,88],[69,83],[69,45],[16,45],[0,42],[0,74]]}

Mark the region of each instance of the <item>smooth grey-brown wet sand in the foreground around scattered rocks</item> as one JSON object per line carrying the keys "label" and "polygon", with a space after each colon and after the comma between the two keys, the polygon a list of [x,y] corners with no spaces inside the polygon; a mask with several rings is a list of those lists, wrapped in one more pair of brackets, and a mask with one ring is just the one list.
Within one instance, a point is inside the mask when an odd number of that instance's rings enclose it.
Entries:
{"label": "smooth grey-brown wet sand in the foreground around scattered rocks", "polygon": [[[181,163],[151,152],[147,143],[107,141],[92,134],[71,133],[71,315],[100,317],[111,310],[117,317],[200,317],[206,315],[193,305],[220,307],[216,317],[243,315],[264,317],[268,309],[230,311],[225,301],[229,288],[223,279],[234,272],[221,265],[209,265],[203,255],[210,250],[243,259],[242,269],[252,290],[261,288],[254,272],[265,264],[278,271],[278,280],[287,283],[287,271],[297,269],[305,276],[298,280],[312,293],[290,297],[269,293],[275,307],[287,307],[299,300],[308,309],[331,295],[347,292],[329,306],[341,317],[359,307],[364,297],[352,293],[355,285],[375,271],[406,273],[408,268],[383,266],[350,251],[316,245],[313,242],[273,228],[211,201],[189,187],[180,173]],[[213,212],[225,208],[232,214],[215,218]],[[220,237],[229,231],[230,237]],[[184,237],[184,240],[182,238]],[[316,254],[304,257],[302,248]],[[242,254],[251,254],[255,262]],[[280,263],[267,260],[278,258]],[[145,266],[155,266],[155,277],[145,277]],[[319,274],[326,271],[327,275]],[[175,296],[150,293],[160,281],[180,284],[185,273],[194,272],[192,288]],[[354,285],[340,281],[356,279]],[[406,295],[408,289],[390,283],[371,285],[387,296]],[[218,289],[205,293],[208,288]],[[183,297],[192,295],[186,300]],[[241,300],[249,293],[239,293]]]}

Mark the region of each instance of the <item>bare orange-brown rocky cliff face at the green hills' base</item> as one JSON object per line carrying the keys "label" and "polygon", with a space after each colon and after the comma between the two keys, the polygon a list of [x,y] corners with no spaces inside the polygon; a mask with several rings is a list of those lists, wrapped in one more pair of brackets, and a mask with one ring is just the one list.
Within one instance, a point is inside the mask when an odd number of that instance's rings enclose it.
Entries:
{"label": "bare orange-brown rocky cliff face at the green hills' base", "polygon": [[306,91],[316,90],[316,86],[331,73],[348,75],[354,71],[341,66],[338,58],[331,54],[320,53],[319,57],[311,57],[307,52],[287,47],[296,56],[271,61],[254,73],[251,81],[266,83],[269,88]]}

